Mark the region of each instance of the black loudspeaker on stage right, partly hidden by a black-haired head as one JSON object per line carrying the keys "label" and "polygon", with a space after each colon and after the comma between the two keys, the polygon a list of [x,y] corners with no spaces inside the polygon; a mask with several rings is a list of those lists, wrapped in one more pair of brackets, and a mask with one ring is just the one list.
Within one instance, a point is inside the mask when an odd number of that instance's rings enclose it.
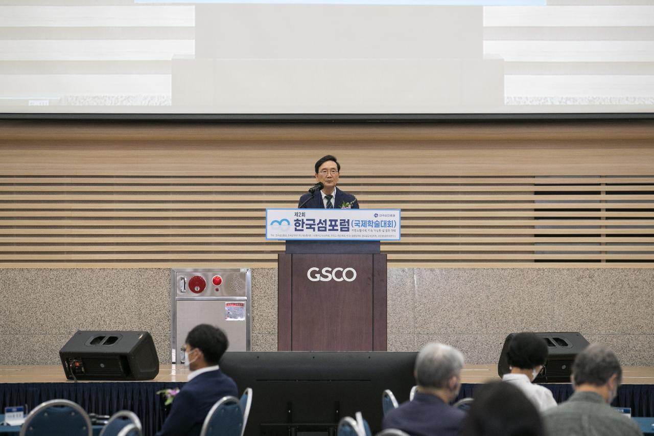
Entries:
{"label": "black loudspeaker on stage right, partly hidden by a black-haired head", "polygon": [[[509,342],[515,334],[511,333],[504,340],[500,361],[497,363],[497,372],[500,377],[510,371],[506,352],[509,349]],[[536,333],[536,335],[544,338],[547,342],[548,355],[543,370],[536,376],[534,382],[570,383],[572,363],[577,354],[589,345],[589,342],[581,336],[581,333],[574,331]]]}

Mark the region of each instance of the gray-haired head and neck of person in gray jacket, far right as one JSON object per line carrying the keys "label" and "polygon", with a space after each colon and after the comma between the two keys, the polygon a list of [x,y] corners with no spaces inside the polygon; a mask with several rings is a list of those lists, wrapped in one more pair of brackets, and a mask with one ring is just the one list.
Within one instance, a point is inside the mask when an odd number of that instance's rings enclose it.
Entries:
{"label": "gray-haired head and neck of person in gray jacket, far right", "polygon": [[594,391],[606,403],[611,403],[621,382],[620,362],[606,346],[591,344],[577,354],[572,365],[572,384],[576,391]]}

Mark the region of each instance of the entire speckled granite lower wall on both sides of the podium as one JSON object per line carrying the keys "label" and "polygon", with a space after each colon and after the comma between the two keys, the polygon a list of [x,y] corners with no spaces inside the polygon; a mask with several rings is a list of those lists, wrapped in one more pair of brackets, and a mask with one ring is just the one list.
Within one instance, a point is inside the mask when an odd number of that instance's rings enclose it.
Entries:
{"label": "entire speckled granite lower wall on both sides of the podium", "polygon": [[[75,331],[145,330],[170,359],[170,270],[0,270],[0,365],[57,364]],[[512,331],[580,331],[624,365],[654,362],[654,269],[390,268],[388,350],[430,341],[496,363]],[[277,270],[252,270],[252,350],[277,348]]]}

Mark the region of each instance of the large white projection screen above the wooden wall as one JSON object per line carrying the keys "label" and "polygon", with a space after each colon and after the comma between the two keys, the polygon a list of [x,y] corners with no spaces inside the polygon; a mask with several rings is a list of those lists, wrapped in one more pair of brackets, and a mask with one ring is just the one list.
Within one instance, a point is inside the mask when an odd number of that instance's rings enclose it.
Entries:
{"label": "large white projection screen above the wooden wall", "polygon": [[654,0],[0,0],[0,113],[654,113]]}

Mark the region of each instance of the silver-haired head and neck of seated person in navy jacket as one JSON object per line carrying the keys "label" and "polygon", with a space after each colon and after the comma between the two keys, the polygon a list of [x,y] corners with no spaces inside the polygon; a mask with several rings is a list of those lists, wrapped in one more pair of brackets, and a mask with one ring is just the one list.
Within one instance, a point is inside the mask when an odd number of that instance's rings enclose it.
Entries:
{"label": "silver-haired head and neck of seated person in navy jacket", "polygon": [[461,388],[463,355],[449,345],[426,344],[415,361],[415,379],[419,391],[432,393],[449,403]]}

